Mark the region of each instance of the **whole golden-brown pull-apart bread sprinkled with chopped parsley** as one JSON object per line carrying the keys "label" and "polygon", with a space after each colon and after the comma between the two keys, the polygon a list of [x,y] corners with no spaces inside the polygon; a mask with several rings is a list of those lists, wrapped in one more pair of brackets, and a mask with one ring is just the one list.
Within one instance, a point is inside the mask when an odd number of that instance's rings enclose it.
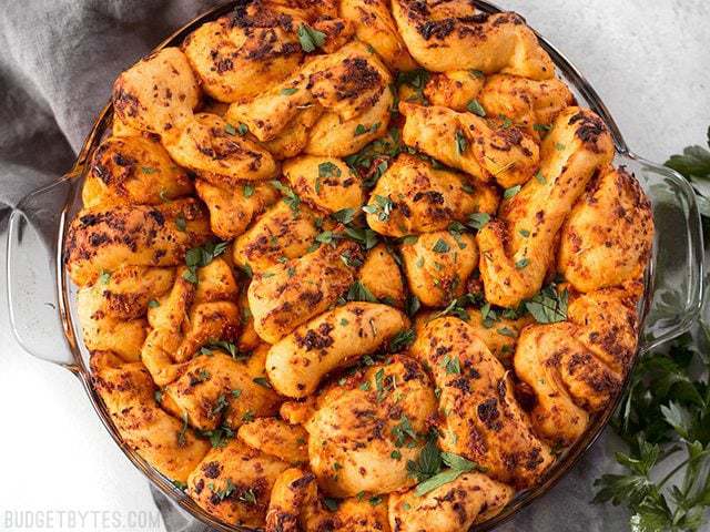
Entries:
{"label": "whole golden-brown pull-apart bread sprinkled with chopped parsley", "polygon": [[64,248],[93,386],[215,519],[467,530],[619,392],[650,204],[518,14],[240,3],[113,111]]}

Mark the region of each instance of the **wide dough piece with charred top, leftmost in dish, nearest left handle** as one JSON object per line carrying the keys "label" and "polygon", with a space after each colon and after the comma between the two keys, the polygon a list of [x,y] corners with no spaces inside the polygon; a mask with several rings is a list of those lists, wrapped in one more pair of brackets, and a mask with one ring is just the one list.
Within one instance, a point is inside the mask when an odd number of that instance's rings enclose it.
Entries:
{"label": "wide dough piece with charred top, leftmost in dish, nearest left handle", "polygon": [[85,208],[69,227],[64,264],[83,286],[126,265],[175,266],[210,236],[207,216],[193,198]]}

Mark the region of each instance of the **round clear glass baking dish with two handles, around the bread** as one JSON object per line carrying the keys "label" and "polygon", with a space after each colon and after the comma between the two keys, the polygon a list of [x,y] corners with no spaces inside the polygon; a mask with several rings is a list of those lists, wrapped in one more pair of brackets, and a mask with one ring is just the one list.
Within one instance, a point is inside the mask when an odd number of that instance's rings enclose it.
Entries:
{"label": "round clear glass baking dish with two handles, around the bread", "polygon": [[[485,12],[500,11],[484,1],[476,0],[474,3]],[[235,4],[230,2],[197,17],[155,50],[179,44],[200,24],[225,14]],[[638,356],[642,356],[659,344],[687,331],[700,311],[702,229],[696,197],[690,185],[678,173],[646,161],[629,150],[591,85],[545,38],[538,37],[555,61],[558,75],[568,83],[579,104],[592,109],[606,121],[616,144],[615,164],[626,166],[636,175],[652,203],[656,239],[639,306],[642,327]],[[10,217],[7,289],[13,334],[28,352],[60,365],[79,378],[97,413],[125,456],[171,500],[216,530],[251,530],[216,521],[124,444],[91,385],[89,352],[82,344],[77,319],[75,287],[62,267],[63,236],[81,208],[81,185],[93,151],[110,133],[111,124],[112,106],[109,103],[94,123],[73,167],[55,183],[24,197]],[[549,491],[594,443],[620,397],[594,418],[584,437],[559,458],[537,487],[519,492],[500,514],[476,525],[474,530],[494,529]]]}

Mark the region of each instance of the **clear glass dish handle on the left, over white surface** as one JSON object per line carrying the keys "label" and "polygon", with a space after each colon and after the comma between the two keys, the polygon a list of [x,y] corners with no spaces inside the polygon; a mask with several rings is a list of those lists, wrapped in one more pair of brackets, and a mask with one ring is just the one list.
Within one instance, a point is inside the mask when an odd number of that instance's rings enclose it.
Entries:
{"label": "clear glass dish handle on the left, over white surface", "polygon": [[20,201],[10,215],[7,279],[10,325],[29,354],[75,370],[61,319],[64,311],[57,282],[71,176],[37,190]]}

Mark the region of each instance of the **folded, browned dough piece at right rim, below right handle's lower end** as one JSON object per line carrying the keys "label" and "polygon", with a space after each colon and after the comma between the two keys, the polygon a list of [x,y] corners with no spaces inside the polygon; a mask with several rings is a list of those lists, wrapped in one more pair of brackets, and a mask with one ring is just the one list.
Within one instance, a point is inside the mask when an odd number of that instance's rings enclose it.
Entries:
{"label": "folded, browned dough piece at right rim, below right handle's lower end", "polygon": [[570,444],[585,431],[588,412],[618,393],[637,347],[639,283],[580,296],[568,321],[527,327],[520,334],[515,370],[536,396],[530,412],[536,433]]}

